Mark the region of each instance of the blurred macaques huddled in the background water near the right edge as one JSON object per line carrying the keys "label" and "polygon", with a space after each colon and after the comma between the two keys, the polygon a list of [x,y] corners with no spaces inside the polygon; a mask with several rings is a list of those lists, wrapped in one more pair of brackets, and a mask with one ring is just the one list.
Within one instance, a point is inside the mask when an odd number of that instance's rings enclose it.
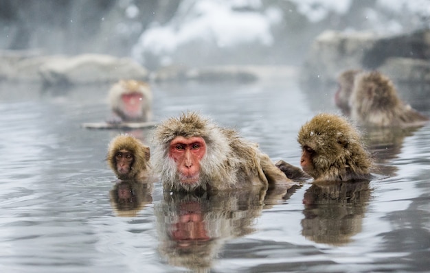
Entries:
{"label": "blurred macaques huddled in the background water near the right edge", "polygon": [[339,85],[335,95],[337,106],[352,120],[365,126],[422,126],[429,121],[428,117],[405,104],[398,97],[392,81],[378,71],[346,71],[339,77]]}

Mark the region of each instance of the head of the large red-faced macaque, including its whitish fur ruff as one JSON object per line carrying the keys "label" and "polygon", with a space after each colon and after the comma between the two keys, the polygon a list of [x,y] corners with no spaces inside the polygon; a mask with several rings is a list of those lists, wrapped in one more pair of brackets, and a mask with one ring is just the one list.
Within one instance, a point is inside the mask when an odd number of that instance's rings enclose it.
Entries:
{"label": "head of the large red-faced macaque, including its whitish fur ruff", "polygon": [[225,165],[229,139],[198,112],[163,121],[155,130],[154,141],[155,167],[167,190],[209,189],[214,181],[234,179]]}

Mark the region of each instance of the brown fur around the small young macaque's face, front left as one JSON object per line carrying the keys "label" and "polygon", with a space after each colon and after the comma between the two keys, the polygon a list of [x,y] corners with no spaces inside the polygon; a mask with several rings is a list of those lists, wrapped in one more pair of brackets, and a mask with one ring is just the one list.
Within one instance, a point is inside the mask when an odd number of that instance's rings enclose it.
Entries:
{"label": "brown fur around the small young macaque's face, front left", "polygon": [[[115,154],[120,150],[127,150],[134,156],[131,171],[126,175],[119,174],[117,171]],[[109,143],[106,161],[117,178],[121,180],[140,180],[148,177],[150,173],[149,158],[150,152],[148,146],[142,144],[141,141],[129,134],[120,134]]]}

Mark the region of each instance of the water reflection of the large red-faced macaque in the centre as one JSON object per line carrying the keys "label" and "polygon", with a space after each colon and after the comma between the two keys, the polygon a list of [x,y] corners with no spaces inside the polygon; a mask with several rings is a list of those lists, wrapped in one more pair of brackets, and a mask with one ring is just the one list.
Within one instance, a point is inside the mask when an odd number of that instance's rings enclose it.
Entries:
{"label": "water reflection of the large red-faced macaque in the centre", "polygon": [[164,193],[155,206],[159,252],[170,265],[209,270],[229,238],[253,232],[265,191]]}

